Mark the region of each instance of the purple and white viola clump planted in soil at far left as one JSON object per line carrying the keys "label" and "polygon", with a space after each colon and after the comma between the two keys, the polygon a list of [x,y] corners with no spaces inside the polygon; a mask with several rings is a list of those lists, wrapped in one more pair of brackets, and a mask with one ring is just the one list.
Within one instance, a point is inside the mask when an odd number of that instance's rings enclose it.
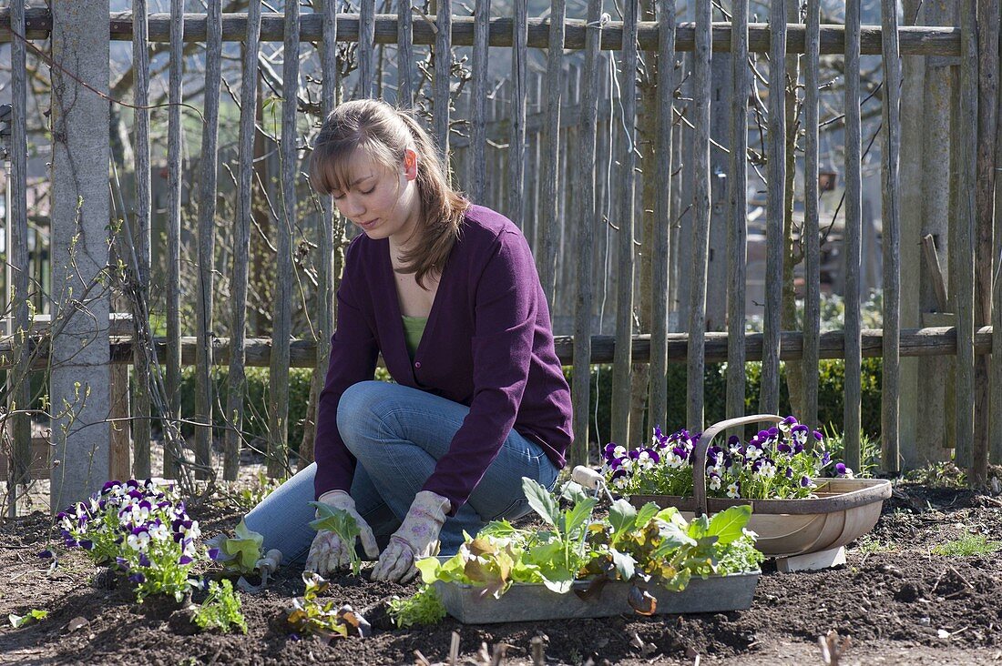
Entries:
{"label": "purple and white viola clump planted in soil at far left", "polygon": [[191,569],[205,559],[198,521],[191,520],[172,486],[151,480],[109,481],[99,493],[56,516],[67,548],[81,548],[97,564],[125,571],[139,603],[151,594],[181,601]]}

